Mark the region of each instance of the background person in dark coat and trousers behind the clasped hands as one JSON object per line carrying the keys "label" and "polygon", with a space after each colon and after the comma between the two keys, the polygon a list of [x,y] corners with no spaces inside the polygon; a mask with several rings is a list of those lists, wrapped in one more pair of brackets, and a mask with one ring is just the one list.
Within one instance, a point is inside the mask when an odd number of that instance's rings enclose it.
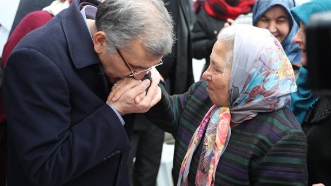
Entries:
{"label": "background person in dark coat and trousers behind the clasped hands", "polygon": [[[168,93],[181,94],[194,83],[189,30],[191,10],[188,9],[191,3],[190,0],[166,0],[164,3],[174,20],[174,33],[177,39],[172,47],[172,54],[164,57],[163,65],[156,69],[163,77]],[[128,158],[132,185],[156,185],[163,141],[164,131],[151,123],[144,115],[137,114],[131,139],[132,149]]]}

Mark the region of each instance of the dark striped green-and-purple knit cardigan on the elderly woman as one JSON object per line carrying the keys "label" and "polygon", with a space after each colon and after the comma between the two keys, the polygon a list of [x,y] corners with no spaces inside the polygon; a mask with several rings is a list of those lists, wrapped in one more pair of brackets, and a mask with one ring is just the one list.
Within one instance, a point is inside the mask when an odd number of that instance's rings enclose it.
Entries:
{"label": "dark striped green-and-purple knit cardigan on the elderly woman", "polygon": [[[206,83],[200,81],[182,95],[166,97],[147,113],[154,124],[173,134],[175,142],[173,179],[189,141],[212,106]],[[260,113],[231,128],[227,149],[220,157],[215,185],[307,185],[307,141],[288,108]],[[199,145],[192,157],[188,185],[194,185],[201,153]]]}

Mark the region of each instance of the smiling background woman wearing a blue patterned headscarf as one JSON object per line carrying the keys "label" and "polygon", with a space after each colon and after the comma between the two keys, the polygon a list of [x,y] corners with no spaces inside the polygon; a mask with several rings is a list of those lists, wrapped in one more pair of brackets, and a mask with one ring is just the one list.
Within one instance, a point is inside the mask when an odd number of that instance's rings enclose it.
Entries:
{"label": "smiling background woman wearing a blue patterned headscarf", "polygon": [[300,67],[301,50],[292,39],[299,26],[294,21],[290,9],[295,7],[294,0],[258,0],[253,7],[253,25],[268,29],[282,44],[294,73]]}

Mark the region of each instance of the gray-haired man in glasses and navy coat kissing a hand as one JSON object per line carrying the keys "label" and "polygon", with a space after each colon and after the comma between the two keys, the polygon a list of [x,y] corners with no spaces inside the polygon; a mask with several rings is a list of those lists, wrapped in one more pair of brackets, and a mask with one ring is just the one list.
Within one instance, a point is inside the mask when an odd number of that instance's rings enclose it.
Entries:
{"label": "gray-haired man in glasses and navy coat kissing a hand", "polygon": [[[99,4],[74,0],[7,60],[9,186],[129,185],[133,113],[159,100],[159,76],[141,79],[171,52],[173,22],[160,0]],[[107,101],[124,77],[136,87]]]}

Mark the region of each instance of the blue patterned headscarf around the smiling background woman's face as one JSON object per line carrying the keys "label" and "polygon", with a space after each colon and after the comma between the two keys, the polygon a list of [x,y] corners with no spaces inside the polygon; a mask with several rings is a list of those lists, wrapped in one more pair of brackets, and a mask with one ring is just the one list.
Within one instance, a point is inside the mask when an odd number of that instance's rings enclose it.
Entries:
{"label": "blue patterned headscarf around the smiling background woman's face", "polygon": [[[331,0],[328,0],[331,1]],[[294,21],[290,9],[295,7],[293,0],[259,0],[253,7],[253,26],[256,26],[258,20],[273,6],[282,6],[289,15],[290,18],[290,31],[284,41],[281,43],[287,58],[292,64],[301,63],[301,50],[298,48],[298,44],[293,43],[292,39],[299,30],[298,24]]]}

